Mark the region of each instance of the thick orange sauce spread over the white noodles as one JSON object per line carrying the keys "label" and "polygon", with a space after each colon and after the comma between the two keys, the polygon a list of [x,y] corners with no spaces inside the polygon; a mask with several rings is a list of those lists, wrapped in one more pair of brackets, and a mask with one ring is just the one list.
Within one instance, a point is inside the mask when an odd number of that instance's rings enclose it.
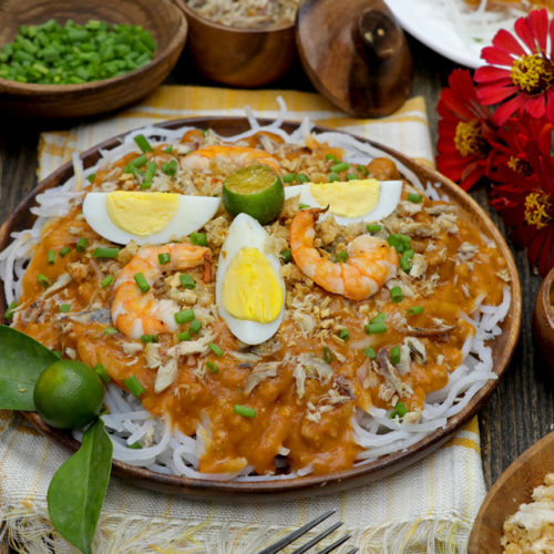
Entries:
{"label": "thick orange sauce spread over the white noodles", "polygon": [[[129,156],[121,161],[124,165]],[[375,165],[376,174],[378,165]],[[382,171],[390,170],[384,164]],[[101,178],[101,175],[99,174]],[[406,196],[406,195],[404,195]],[[424,204],[430,202],[424,199]],[[425,220],[430,216],[418,214],[416,220]],[[84,253],[75,250],[79,238],[88,237],[89,242],[100,237],[88,226],[80,216],[80,207],[62,218],[54,220],[44,229],[40,245],[23,278],[23,294],[20,299],[21,314],[39,309],[39,316],[25,321],[24,317],[17,320],[17,328],[41,341],[49,348],[75,350],[76,358],[94,367],[102,363],[112,379],[123,387],[123,381],[135,376],[143,384],[145,392],[141,400],[146,410],[157,417],[167,417],[185,434],[193,435],[198,424],[204,420],[209,421],[211,438],[206,443],[206,451],[201,459],[199,471],[232,472],[242,469],[246,463],[254,466],[258,474],[273,473],[276,470],[275,456],[280,451],[289,451],[286,456],[288,464],[294,470],[309,464],[314,474],[326,474],[349,469],[352,466],[360,451],[353,441],[350,420],[357,407],[368,408],[378,406],[391,408],[379,397],[379,388],[384,382],[377,376],[377,382],[371,387],[363,383],[360,367],[367,362],[362,348],[355,348],[356,342],[365,341],[375,348],[376,352],[382,348],[390,349],[402,343],[408,332],[401,332],[388,325],[384,334],[368,336],[363,326],[370,316],[362,316],[360,309],[368,305],[367,314],[373,316],[377,311],[392,314],[394,310],[406,310],[411,306],[422,306],[424,312],[418,316],[408,316],[408,322],[417,328],[433,328],[440,318],[444,325],[455,325],[455,328],[438,337],[421,337],[425,345],[430,360],[427,365],[412,362],[410,373],[402,380],[413,389],[413,396],[401,398],[410,409],[421,408],[425,396],[442,388],[448,381],[448,375],[455,369],[461,360],[460,349],[472,327],[459,319],[461,311],[471,312],[473,299],[485,295],[485,302],[497,305],[502,299],[503,283],[496,276],[500,269],[505,268],[505,260],[494,248],[488,247],[476,228],[470,223],[459,218],[459,233],[441,237],[447,248],[447,261],[438,257],[429,257],[429,273],[434,269],[439,275],[435,290],[425,298],[411,300],[402,299],[400,304],[390,300],[390,293],[381,289],[375,297],[352,302],[337,295],[330,295],[314,286],[321,298],[331,297],[329,308],[340,320],[340,325],[349,330],[350,340],[329,340],[321,342],[319,339],[305,337],[299,332],[297,325],[285,318],[276,335],[280,347],[261,361],[289,360],[279,367],[277,376],[261,380],[249,394],[244,392],[245,382],[253,371],[253,365],[240,363],[232,351],[239,351],[244,345],[230,334],[223,320],[217,320],[211,328],[216,334],[215,342],[225,352],[216,356],[212,351],[202,357],[202,370],[198,370],[197,356],[183,357],[179,360],[179,373],[176,381],[162,391],[154,392],[156,369],[146,366],[144,356],[129,356],[123,350],[123,345],[133,342],[121,334],[105,335],[106,324],[81,324],[73,321],[71,327],[61,330],[53,324],[59,315],[59,302],[72,305],[72,312],[91,309],[91,305],[110,308],[113,298],[113,286],[103,288],[100,285],[105,273],[94,269],[91,258]],[[454,254],[463,242],[480,245],[479,263],[473,270],[466,264],[456,263]],[[72,247],[65,257],[57,255],[55,263],[48,264],[48,252],[57,253],[64,246]],[[89,267],[86,277],[82,280],[72,280],[57,297],[55,305],[51,306],[41,298],[44,287],[38,284],[39,274],[45,275],[50,283],[66,271],[68,264],[85,261]],[[435,268],[433,269],[433,265]],[[202,268],[191,269],[189,275],[197,281],[202,278]],[[458,284],[454,284],[458,276]],[[116,277],[116,276],[115,276]],[[464,283],[470,291],[470,298],[460,293],[460,284]],[[213,285],[212,285],[213,286]],[[378,307],[378,309],[376,309]],[[109,324],[113,325],[113,324]],[[183,330],[186,327],[183,328]],[[134,341],[140,342],[140,341]],[[168,348],[178,343],[176,336],[165,334],[160,336],[163,355]],[[295,379],[295,360],[301,353],[322,356],[324,346],[328,346],[335,353],[331,368],[337,376],[343,376],[353,394],[351,399],[335,404],[331,410],[324,411],[319,418],[309,418],[309,403],[317,406],[329,393],[329,383],[315,378],[305,381],[305,393],[299,398]],[[438,356],[443,357],[442,363],[433,363]],[[343,357],[345,361],[339,361]],[[213,361],[218,367],[218,372],[205,370],[206,362]],[[254,418],[246,418],[234,412],[235,404],[248,406],[256,410]]]}

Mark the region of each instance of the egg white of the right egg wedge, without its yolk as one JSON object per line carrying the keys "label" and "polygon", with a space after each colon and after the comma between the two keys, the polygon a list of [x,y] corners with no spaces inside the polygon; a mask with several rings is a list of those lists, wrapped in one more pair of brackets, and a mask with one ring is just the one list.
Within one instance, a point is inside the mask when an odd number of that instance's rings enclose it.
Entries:
{"label": "egg white of the right egg wedge, without its yolk", "polygon": [[[373,209],[358,217],[345,217],[341,215],[336,215],[329,208],[325,214],[321,215],[321,218],[328,217],[332,215],[338,225],[349,225],[351,223],[365,222],[372,223],[379,222],[392,214],[400,202],[400,194],[402,193],[402,182],[401,181],[381,181],[381,186],[379,189],[379,201]],[[345,184],[348,186],[347,184]],[[293,196],[300,195],[300,204],[306,204],[310,207],[321,207],[325,208],[327,206],[321,206],[318,204],[316,198],[314,198],[310,184],[305,183],[302,185],[291,185],[285,187],[285,199],[291,198]]]}

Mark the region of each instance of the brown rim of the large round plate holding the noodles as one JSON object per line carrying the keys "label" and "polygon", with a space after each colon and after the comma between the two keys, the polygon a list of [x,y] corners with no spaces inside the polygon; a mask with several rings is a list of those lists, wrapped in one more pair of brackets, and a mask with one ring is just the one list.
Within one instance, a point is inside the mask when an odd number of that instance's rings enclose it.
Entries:
{"label": "brown rim of the large round plate holding the noodles", "polygon": [[[260,123],[268,124],[270,123],[270,121],[260,120]],[[244,117],[197,117],[170,121],[161,124],[160,126],[165,129],[177,129],[185,125],[193,125],[199,129],[212,129],[224,136],[238,134],[249,129],[248,122]],[[297,123],[285,123],[283,125],[283,129],[285,129],[285,131],[287,132],[291,132],[297,126]],[[322,132],[334,130],[316,127],[315,131]],[[443,429],[438,429],[433,433],[429,434],[425,439],[419,441],[418,443],[403,451],[388,454],[370,463],[358,468],[352,468],[347,471],[341,471],[329,475],[307,475],[285,481],[217,482],[188,479],[176,475],[163,475],[161,473],[152,472],[143,468],[135,468],[114,460],[113,473],[115,475],[127,478],[133,483],[140,486],[199,497],[213,497],[232,494],[236,499],[256,495],[257,499],[260,500],[265,495],[269,500],[275,493],[300,496],[305,495],[307,490],[309,490],[310,495],[318,493],[328,494],[332,491],[353,488],[363,483],[368,483],[378,478],[382,478],[384,475],[397,472],[402,468],[406,468],[407,465],[420,460],[429,452],[443,444],[452,434],[452,432],[468,422],[479,411],[489,396],[496,388],[496,386],[499,384],[499,380],[506,370],[507,363],[510,362],[512,353],[515,349],[515,345],[520,335],[522,315],[520,279],[510,248],[507,247],[499,229],[494,226],[488,215],[458,185],[453,184],[451,181],[434,172],[430,167],[419,164],[392,148],[382,146],[362,137],[357,138],[382,150],[386,155],[388,155],[392,160],[400,162],[416,175],[418,175],[418,177],[422,182],[441,183],[441,194],[447,194],[453,203],[458,204],[461,213],[463,213],[465,217],[470,222],[472,222],[473,225],[479,227],[483,234],[491,237],[496,244],[496,248],[505,257],[507,261],[507,270],[511,277],[512,305],[506,318],[502,324],[503,332],[492,345],[494,371],[499,376],[499,379],[489,380],[461,412],[448,420],[447,425]],[[81,155],[84,167],[90,167],[98,162],[98,160],[100,158],[100,148],[109,150],[119,145],[119,137],[114,137],[84,152]],[[0,249],[6,248],[6,246],[10,243],[9,237],[13,230],[28,228],[32,224],[34,216],[30,213],[29,208],[34,204],[35,195],[47,188],[60,185],[72,175],[73,168],[71,164],[65,164],[54,173],[52,173],[44,181],[39,183],[37,188],[31,192],[25,198],[23,198],[23,201],[19,204],[10,218],[2,225],[2,227],[0,227]],[[4,306],[2,306],[2,304],[3,294],[0,298],[0,309],[3,312]],[[47,423],[44,423],[44,421],[42,421],[42,419],[38,414],[24,412],[24,416],[33,423],[33,425],[39,431],[43,432],[48,437],[51,437],[55,441],[66,445],[72,450],[76,450],[79,448],[79,443],[73,440],[70,434],[50,428]]]}

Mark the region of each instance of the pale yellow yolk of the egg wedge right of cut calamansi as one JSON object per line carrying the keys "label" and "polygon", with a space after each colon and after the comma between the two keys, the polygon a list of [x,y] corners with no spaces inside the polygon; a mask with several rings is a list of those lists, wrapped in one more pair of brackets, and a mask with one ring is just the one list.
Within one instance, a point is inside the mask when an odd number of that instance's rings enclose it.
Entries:
{"label": "pale yellow yolk of the egg wedge right of cut calamansi", "polygon": [[379,202],[380,188],[381,184],[375,178],[310,184],[316,202],[342,217],[360,217],[371,212]]}

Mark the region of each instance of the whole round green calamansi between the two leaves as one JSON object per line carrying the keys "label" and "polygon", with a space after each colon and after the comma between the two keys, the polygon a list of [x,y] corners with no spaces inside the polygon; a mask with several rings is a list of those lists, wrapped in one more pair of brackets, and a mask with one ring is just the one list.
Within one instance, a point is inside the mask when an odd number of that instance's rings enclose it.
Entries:
{"label": "whole round green calamansi between the two leaves", "polygon": [[104,386],[89,366],[59,360],[40,375],[33,399],[37,411],[49,425],[80,429],[99,414]]}

